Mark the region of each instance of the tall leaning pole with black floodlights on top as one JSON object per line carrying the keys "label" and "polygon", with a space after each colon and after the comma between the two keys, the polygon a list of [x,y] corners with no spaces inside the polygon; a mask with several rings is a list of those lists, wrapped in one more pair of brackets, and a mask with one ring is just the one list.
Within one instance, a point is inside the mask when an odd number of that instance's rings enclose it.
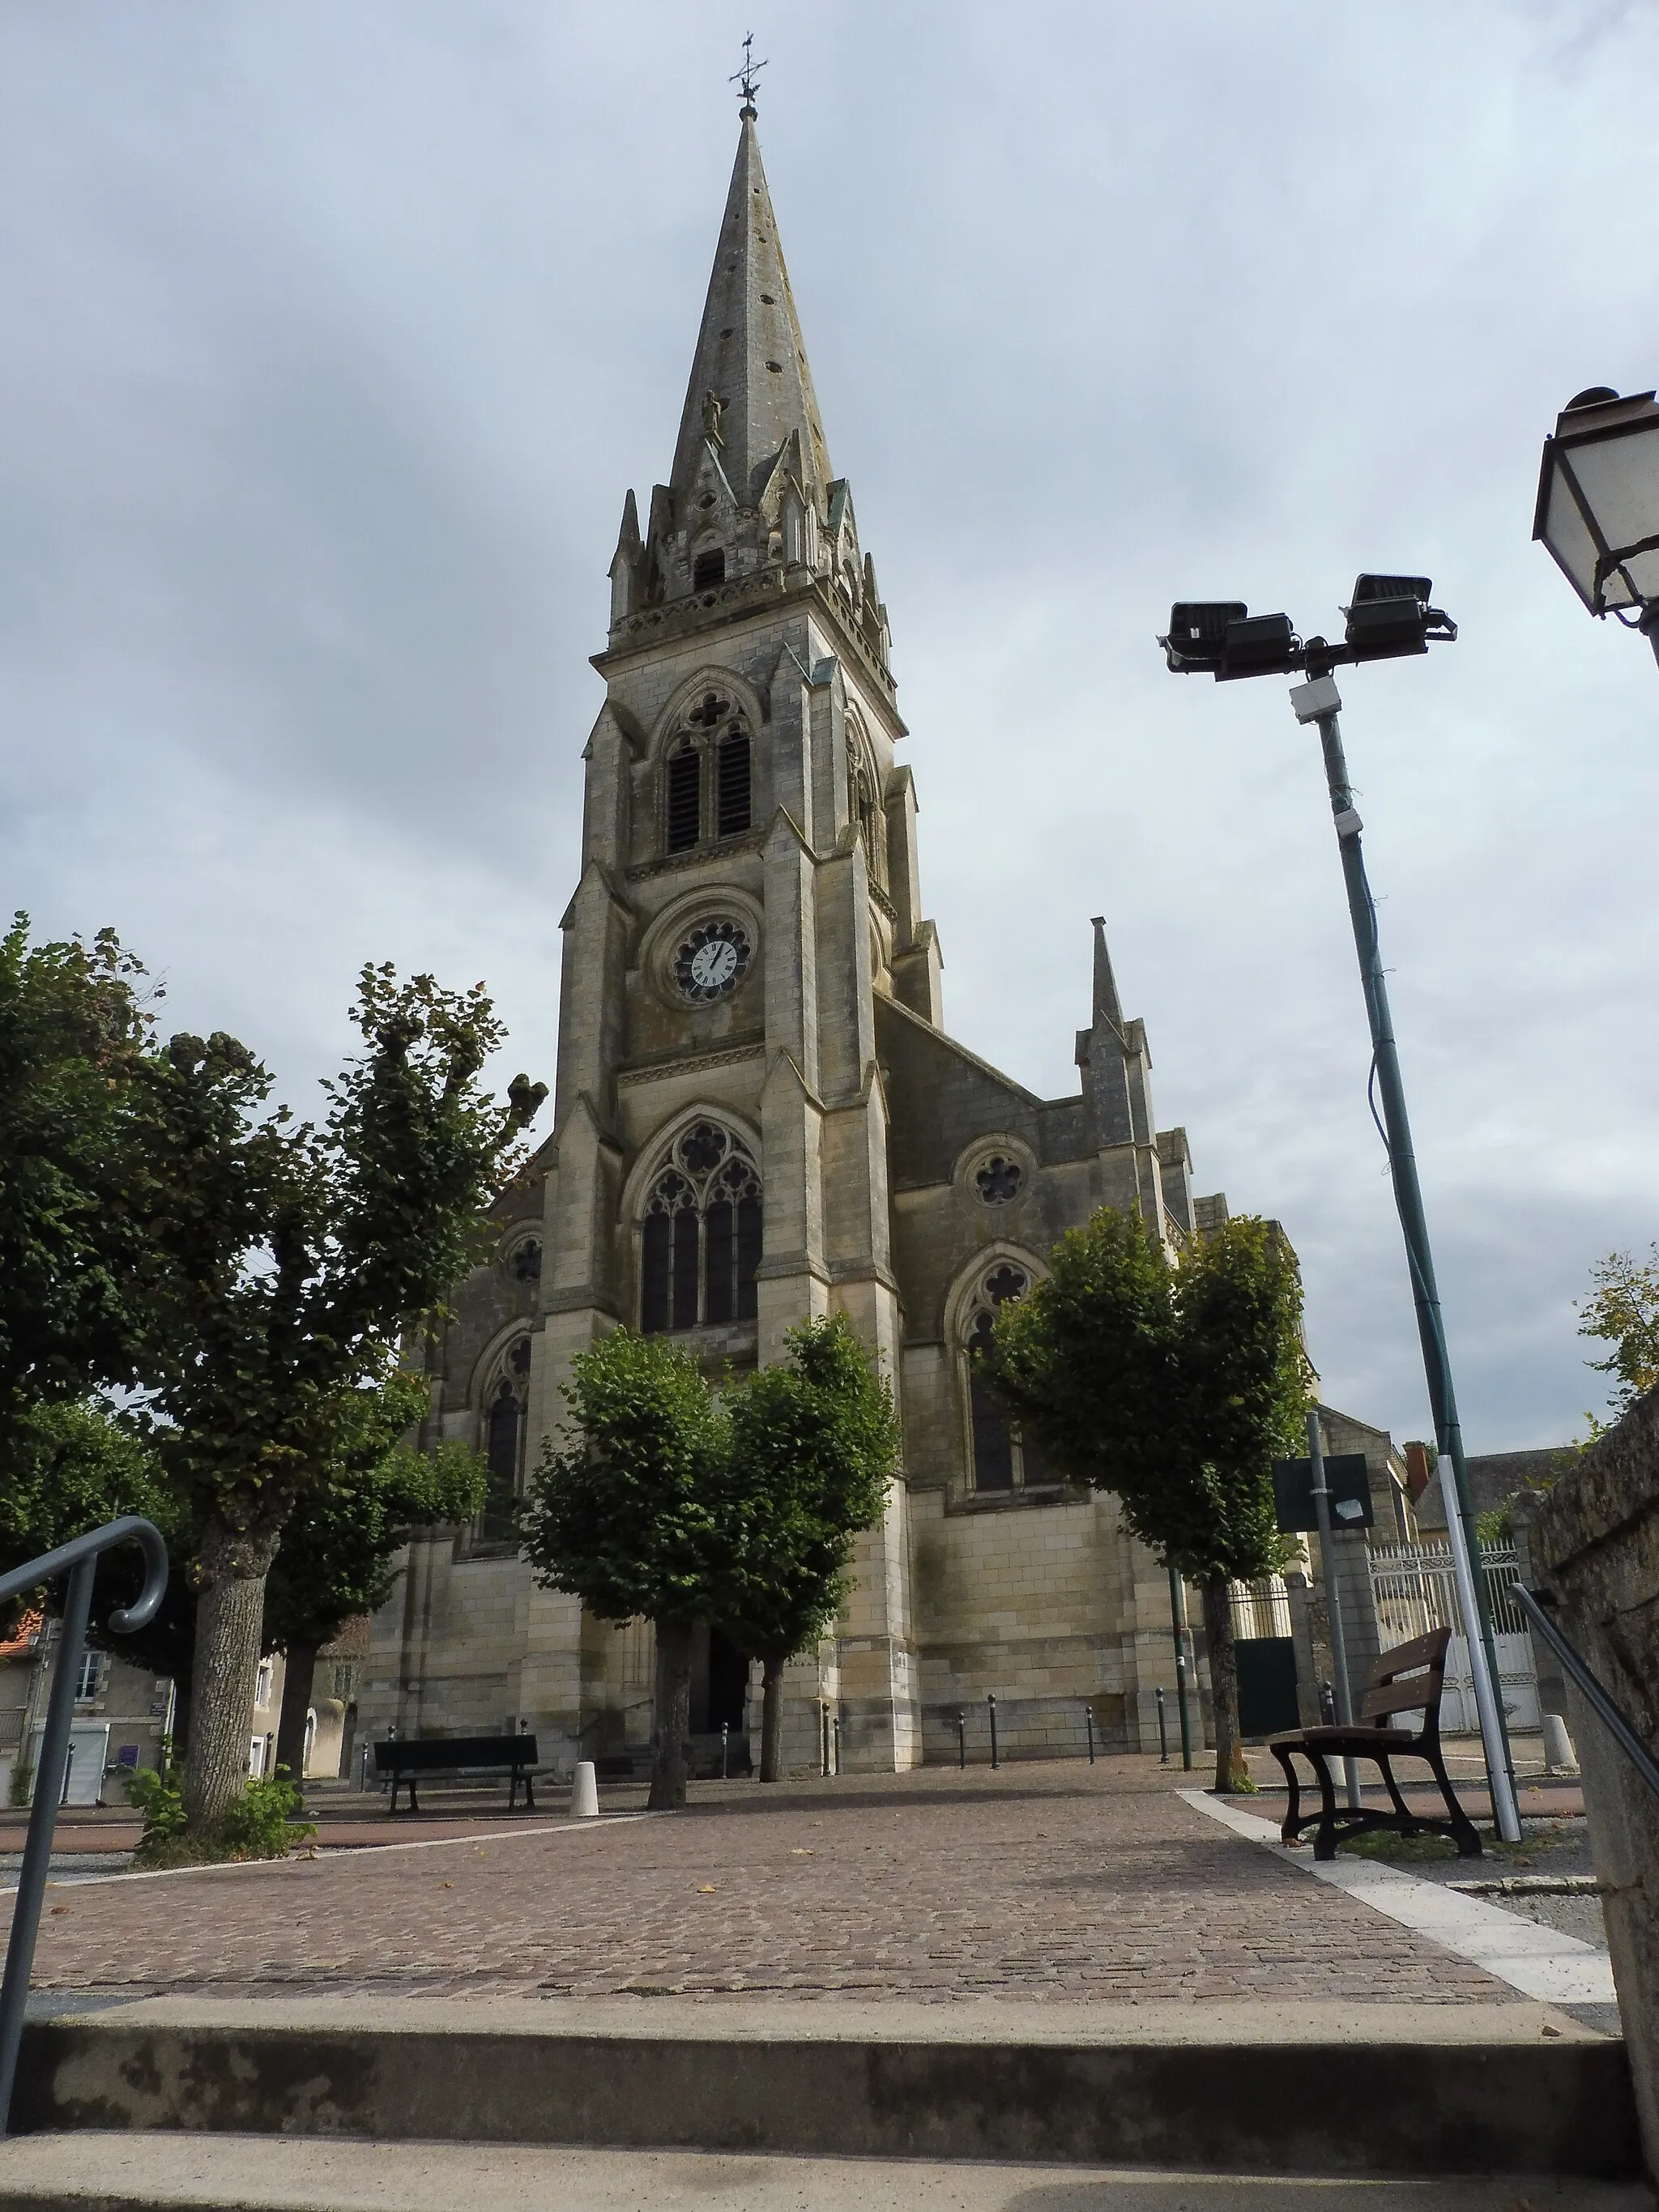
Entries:
{"label": "tall leaning pole with black floodlights on top", "polygon": [[[1498,1697],[1498,1655],[1493,1650],[1491,1608],[1480,1575],[1480,1540],[1475,1537],[1475,1513],[1469,1498],[1462,1425],[1458,1422],[1458,1398],[1451,1387],[1451,1356],[1440,1318],[1440,1290],[1433,1276],[1418,1161],[1411,1150],[1411,1124],[1405,1110],[1405,1082],[1400,1077],[1400,1053],[1394,1042],[1394,1018],[1383,975],[1376,900],[1371,898],[1371,885],[1365,876],[1365,854],[1360,852],[1363,825],[1354,805],[1354,787],[1347,781],[1343,732],[1336,721],[1343,699],[1332,677],[1332,668],[1338,666],[1398,659],[1407,653],[1427,653],[1436,641],[1449,644],[1455,639],[1458,624],[1429,604],[1431,593],[1433,586],[1427,575],[1358,577],[1354,597],[1343,608],[1347,624],[1340,646],[1327,644],[1323,637],[1310,637],[1303,644],[1292,628],[1290,615],[1252,617],[1241,599],[1190,599],[1170,608],[1170,633],[1168,637],[1159,637],[1159,644],[1164,646],[1168,666],[1177,675],[1212,675],[1217,684],[1256,675],[1305,677],[1303,684],[1294,686],[1290,703],[1296,721],[1318,726],[1325,752],[1325,783],[1332,794],[1332,821],[1347,883],[1347,911],[1354,922],[1365,1013],[1371,1024],[1371,1084],[1376,1102],[1383,1106],[1380,1128],[1394,1179],[1394,1206],[1400,1214],[1400,1232],[1411,1267],[1411,1301],[1418,1312],[1422,1371],[1429,1383],[1429,1405],[1433,1409],[1440,1455],[1451,1464],[1453,1475],[1451,1484],[1442,1482],[1447,1535],[1451,1540],[1458,1604],[1469,1630],[1469,1670],[1475,1681],[1475,1710],[1480,1712],[1480,1743],[1486,1754],[1493,1820],[1504,1843],[1520,1843],[1515,1770],[1509,1756],[1504,1708]],[[1371,1110],[1376,1113],[1376,1104]]]}

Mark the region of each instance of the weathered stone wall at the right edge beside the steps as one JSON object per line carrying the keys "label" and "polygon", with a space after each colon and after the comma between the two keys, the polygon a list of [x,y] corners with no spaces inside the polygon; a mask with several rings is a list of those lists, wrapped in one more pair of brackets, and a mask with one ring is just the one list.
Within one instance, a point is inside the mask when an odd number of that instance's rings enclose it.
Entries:
{"label": "weathered stone wall at the right edge beside the steps", "polygon": [[[1528,1551],[1557,1597],[1562,1635],[1659,1752],[1659,1391],[1562,1475],[1540,1506]],[[1630,2075],[1659,2172],[1659,1798],[1601,1721],[1568,1692],[1584,1770],[1595,1871],[1608,1885],[1606,1920]]]}

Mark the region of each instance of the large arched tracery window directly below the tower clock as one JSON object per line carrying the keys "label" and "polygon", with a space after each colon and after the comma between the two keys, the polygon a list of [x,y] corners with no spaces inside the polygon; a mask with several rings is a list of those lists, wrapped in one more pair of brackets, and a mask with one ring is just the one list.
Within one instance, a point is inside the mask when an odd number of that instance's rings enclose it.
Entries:
{"label": "large arched tracery window directly below the tower clock", "polygon": [[761,1175],[719,1121],[679,1133],[646,1192],[639,1223],[639,1327],[646,1336],[701,1323],[754,1321],[761,1263]]}

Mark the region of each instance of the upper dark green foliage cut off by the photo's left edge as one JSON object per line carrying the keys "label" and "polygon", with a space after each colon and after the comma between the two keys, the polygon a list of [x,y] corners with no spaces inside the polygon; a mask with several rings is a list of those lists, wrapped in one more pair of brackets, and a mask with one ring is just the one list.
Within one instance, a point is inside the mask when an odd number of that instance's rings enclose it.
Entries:
{"label": "upper dark green foliage cut off by the photo's left edge", "polygon": [[0,938],[0,1475],[29,1405],[128,1383],[148,1248],[128,1199],[144,971],[104,929]]}

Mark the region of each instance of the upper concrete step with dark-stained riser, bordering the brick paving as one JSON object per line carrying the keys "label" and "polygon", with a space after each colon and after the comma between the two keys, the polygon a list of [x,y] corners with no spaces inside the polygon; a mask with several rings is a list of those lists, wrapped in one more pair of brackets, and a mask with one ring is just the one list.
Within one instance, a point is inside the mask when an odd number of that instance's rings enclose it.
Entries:
{"label": "upper concrete step with dark-stained riser, bordering the brick paving", "polygon": [[1641,2172],[1624,2044],[1526,2000],[150,1997],[33,2020],[13,2126],[1217,2174]]}

